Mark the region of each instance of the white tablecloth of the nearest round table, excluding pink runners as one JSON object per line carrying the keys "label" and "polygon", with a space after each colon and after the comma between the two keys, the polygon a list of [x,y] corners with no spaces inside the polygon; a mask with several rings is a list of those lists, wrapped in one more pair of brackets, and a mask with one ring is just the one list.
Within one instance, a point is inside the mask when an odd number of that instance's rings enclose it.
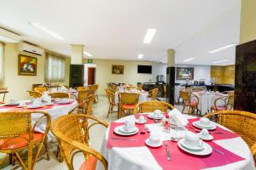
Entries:
{"label": "white tablecloth of the nearest round table, excluding pink runners", "polygon": [[[193,116],[187,116],[187,118],[195,118]],[[116,122],[125,122],[127,119],[135,120],[135,116],[126,116],[124,118],[119,119]],[[159,130],[159,134],[162,140],[170,139],[171,133],[164,133],[162,132],[160,125],[158,124],[147,124],[146,125],[149,129],[154,129],[153,132]],[[220,125],[218,125],[220,126]],[[222,126],[220,126],[222,127]],[[107,141],[108,141],[108,133],[109,127],[106,131],[105,138],[102,142],[102,155],[108,160],[108,169],[110,170],[158,170],[162,169],[157,161],[155,161],[154,156],[152,156],[151,152],[148,150],[148,147],[129,147],[129,148],[118,148],[113,147],[111,149],[107,149]],[[180,134],[182,132],[178,132]],[[238,161],[235,163],[231,163],[226,166],[222,167],[212,167],[207,168],[211,170],[233,170],[233,169],[244,169],[244,170],[254,170],[254,161],[253,156],[243,139],[240,137],[235,139],[222,139],[222,140],[215,140],[216,144],[221,145],[226,150],[230,150],[231,152],[235,153],[238,156],[245,158],[244,161]],[[185,162],[184,162],[185,163]],[[97,169],[103,169],[102,164],[97,164]]]}

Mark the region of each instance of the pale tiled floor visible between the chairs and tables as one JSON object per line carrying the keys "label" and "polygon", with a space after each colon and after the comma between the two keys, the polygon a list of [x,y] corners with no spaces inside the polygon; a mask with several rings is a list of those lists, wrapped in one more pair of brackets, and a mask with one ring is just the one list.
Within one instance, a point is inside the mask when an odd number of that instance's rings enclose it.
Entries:
{"label": "pale tiled floor visible between the chairs and tables", "polygon": [[[94,105],[94,113],[93,116],[96,116],[105,122],[113,122],[117,119],[116,114],[110,115],[107,118],[107,112],[108,112],[108,99],[106,96],[99,96],[99,101]],[[180,105],[175,105],[177,109],[182,109]],[[102,144],[102,138],[105,133],[105,127],[97,126],[94,129],[91,129],[90,131],[90,146],[94,148],[95,150],[100,150],[101,144]],[[60,163],[55,158],[55,150],[53,149],[49,150],[50,152],[50,160],[41,160],[38,161],[35,165],[35,170],[66,170],[67,166],[66,163],[63,161]],[[84,158],[82,155],[78,155],[74,159],[74,167],[75,169],[79,169],[79,166],[84,161]],[[9,167],[6,167],[5,169],[9,169]]]}

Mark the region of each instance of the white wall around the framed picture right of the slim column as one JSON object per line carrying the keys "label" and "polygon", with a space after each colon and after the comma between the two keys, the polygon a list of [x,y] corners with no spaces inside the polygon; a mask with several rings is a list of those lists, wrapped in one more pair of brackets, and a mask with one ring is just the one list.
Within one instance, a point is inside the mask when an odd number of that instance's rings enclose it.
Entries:
{"label": "white wall around the framed picture right of the slim column", "polygon": [[[211,65],[175,65],[176,67],[192,67],[194,68],[194,81],[205,79],[208,84],[211,81]],[[175,82],[185,83],[185,80],[177,80],[175,76]]]}

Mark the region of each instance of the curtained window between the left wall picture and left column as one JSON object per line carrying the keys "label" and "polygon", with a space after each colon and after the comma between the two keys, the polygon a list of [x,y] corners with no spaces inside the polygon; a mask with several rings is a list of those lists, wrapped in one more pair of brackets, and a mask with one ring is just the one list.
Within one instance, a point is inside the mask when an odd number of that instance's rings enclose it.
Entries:
{"label": "curtained window between the left wall picture and left column", "polygon": [[55,54],[46,54],[45,82],[65,81],[66,59]]}

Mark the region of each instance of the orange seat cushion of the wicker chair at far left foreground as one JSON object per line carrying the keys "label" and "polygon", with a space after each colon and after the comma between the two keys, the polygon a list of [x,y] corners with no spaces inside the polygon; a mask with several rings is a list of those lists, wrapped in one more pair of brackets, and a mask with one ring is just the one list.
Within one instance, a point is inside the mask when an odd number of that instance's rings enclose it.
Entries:
{"label": "orange seat cushion of the wicker chair at far left foreground", "polygon": [[[34,133],[34,142],[38,142],[43,139],[44,133]],[[20,135],[20,137],[15,137],[13,139],[2,139],[0,140],[0,150],[15,150],[24,147],[28,144],[29,134]]]}

